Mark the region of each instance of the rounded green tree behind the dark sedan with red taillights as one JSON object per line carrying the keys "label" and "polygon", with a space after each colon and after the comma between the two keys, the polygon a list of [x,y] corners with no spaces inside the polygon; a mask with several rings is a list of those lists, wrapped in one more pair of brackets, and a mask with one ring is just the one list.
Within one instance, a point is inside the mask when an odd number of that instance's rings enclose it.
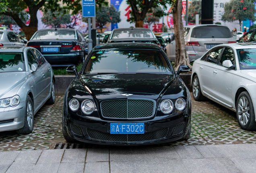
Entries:
{"label": "rounded green tree behind the dark sedan with red taillights", "polygon": [[42,22],[46,25],[51,25],[55,28],[60,28],[61,24],[70,23],[71,16],[69,13],[64,13],[63,10],[56,12],[47,12],[43,14]]}

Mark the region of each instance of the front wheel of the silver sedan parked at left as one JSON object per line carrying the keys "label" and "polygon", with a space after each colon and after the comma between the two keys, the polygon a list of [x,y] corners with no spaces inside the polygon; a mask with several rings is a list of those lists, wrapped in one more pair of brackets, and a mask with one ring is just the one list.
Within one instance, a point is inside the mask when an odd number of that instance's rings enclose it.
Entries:
{"label": "front wheel of the silver sedan parked at left", "polygon": [[16,132],[18,134],[27,135],[33,131],[33,128],[34,128],[33,102],[31,98],[27,96],[24,126],[21,129],[18,129]]}

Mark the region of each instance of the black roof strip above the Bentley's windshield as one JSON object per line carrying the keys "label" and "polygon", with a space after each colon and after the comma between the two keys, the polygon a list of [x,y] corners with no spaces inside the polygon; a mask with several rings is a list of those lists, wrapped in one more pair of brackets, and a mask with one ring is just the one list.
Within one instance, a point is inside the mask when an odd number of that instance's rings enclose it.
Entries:
{"label": "black roof strip above the Bentley's windshield", "polygon": [[105,43],[98,44],[93,48],[95,50],[102,49],[147,49],[147,50],[162,50],[157,44],[141,43],[141,42],[118,42],[118,43]]}

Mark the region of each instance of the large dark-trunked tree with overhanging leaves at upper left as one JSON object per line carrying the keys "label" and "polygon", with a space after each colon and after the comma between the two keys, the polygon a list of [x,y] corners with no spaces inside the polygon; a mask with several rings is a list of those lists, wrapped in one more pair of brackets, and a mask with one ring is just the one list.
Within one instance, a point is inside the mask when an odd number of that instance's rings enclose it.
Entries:
{"label": "large dark-trunked tree with overhanging leaves at upper left", "polygon": [[[71,10],[72,14],[77,14],[82,10],[81,0],[0,0],[1,2],[4,2],[7,8],[1,12],[0,6],[0,15],[11,16],[21,27],[28,40],[37,31],[37,10],[40,9],[47,13],[63,9],[64,12]],[[107,4],[107,0],[96,1],[97,8],[101,8],[101,5],[104,4]],[[21,12],[24,10],[30,16],[28,26],[23,22],[25,17],[21,16]]]}

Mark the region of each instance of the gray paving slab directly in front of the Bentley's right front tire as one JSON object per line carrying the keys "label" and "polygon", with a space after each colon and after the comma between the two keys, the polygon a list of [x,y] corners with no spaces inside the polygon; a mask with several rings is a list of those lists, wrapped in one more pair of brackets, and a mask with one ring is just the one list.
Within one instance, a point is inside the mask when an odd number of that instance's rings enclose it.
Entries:
{"label": "gray paving slab directly in front of the Bentley's right front tire", "polygon": [[174,149],[177,151],[178,155],[182,159],[203,158],[203,156],[200,154],[200,152],[196,149],[194,145],[174,146]]}

